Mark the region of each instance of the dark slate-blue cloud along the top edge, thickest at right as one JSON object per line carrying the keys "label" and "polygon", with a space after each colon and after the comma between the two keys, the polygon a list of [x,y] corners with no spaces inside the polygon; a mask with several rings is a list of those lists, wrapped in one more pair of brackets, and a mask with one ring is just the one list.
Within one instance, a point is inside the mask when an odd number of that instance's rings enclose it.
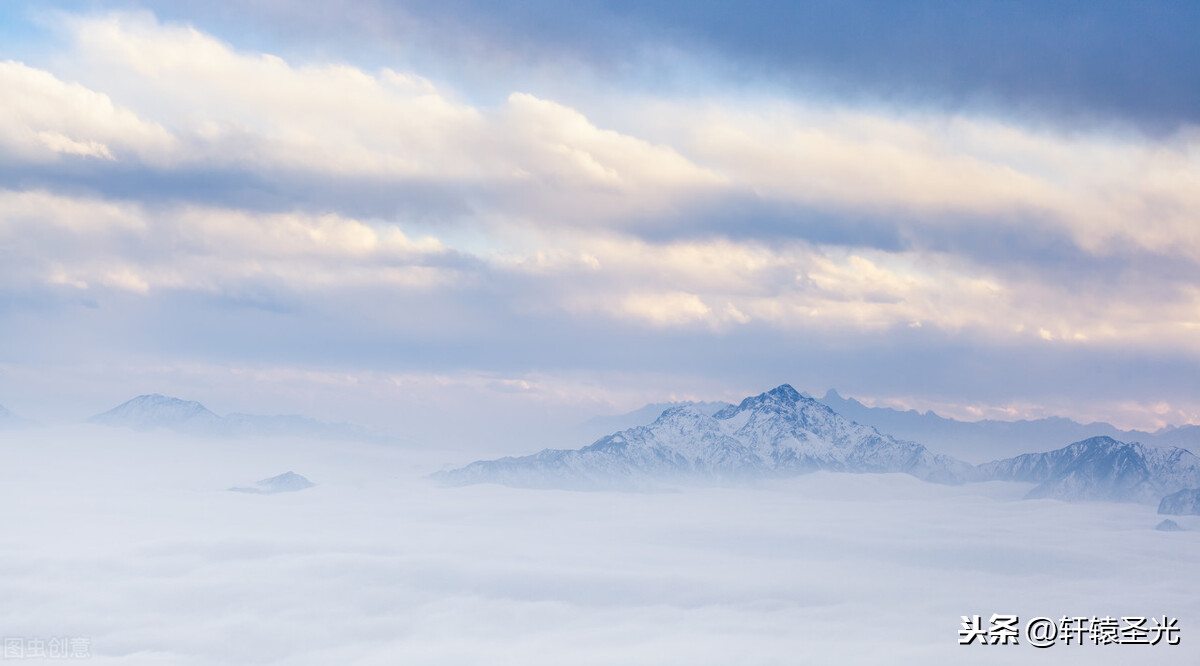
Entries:
{"label": "dark slate-blue cloud along the top edge, thickest at right", "polygon": [[683,52],[700,56],[725,86],[745,80],[905,104],[995,107],[1063,128],[1084,119],[1151,131],[1200,121],[1194,2],[371,0],[336,12],[322,2],[151,6],[253,46],[288,49],[295,40],[373,61],[440,58],[460,73],[576,67],[626,85],[686,88],[691,74],[666,71],[664,55]]}

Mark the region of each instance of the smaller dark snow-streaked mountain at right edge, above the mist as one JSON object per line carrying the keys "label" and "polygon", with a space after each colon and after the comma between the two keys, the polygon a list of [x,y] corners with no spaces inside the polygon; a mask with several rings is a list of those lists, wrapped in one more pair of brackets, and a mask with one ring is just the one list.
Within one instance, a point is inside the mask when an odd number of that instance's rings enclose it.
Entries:
{"label": "smaller dark snow-streaked mountain at right edge, above the mist", "polygon": [[1093,437],[1045,454],[980,464],[980,480],[1038,484],[1028,498],[1158,502],[1200,486],[1200,458],[1187,449],[1153,449]]}

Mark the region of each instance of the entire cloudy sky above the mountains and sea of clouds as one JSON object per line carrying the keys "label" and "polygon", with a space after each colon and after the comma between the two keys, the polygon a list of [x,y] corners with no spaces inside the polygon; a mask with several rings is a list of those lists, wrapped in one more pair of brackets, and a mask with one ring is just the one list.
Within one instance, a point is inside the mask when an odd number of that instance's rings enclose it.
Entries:
{"label": "entire cloudy sky above the mountains and sea of clouds", "polygon": [[1200,422],[1194,2],[340,5],[0,7],[0,404]]}

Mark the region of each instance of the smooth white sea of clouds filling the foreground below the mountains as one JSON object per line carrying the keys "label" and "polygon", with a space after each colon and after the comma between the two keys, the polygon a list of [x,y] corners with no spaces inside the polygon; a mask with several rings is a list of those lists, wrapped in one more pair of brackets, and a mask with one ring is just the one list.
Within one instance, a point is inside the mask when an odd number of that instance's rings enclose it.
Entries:
{"label": "smooth white sea of clouds filling the foreground below the mountains", "polygon": [[[523,454],[528,451],[514,451]],[[479,451],[0,433],[0,631],[121,665],[1195,664],[1200,517],[812,474],[439,487]],[[294,470],[317,485],[229,492]],[[958,644],[964,614],[1180,618],[1177,646]]]}

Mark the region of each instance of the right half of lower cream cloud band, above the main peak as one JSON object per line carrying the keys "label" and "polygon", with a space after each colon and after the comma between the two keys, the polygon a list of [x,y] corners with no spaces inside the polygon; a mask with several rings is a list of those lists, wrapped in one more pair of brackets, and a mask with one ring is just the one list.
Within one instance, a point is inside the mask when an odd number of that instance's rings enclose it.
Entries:
{"label": "right half of lower cream cloud band, above the main peak", "polygon": [[1056,282],[949,253],[800,241],[648,242],[553,233],[538,250],[490,258],[539,277],[535,310],[607,314],[654,326],[862,334],[935,328],[984,344],[1200,352],[1200,290],[1135,274],[1114,286]]}

